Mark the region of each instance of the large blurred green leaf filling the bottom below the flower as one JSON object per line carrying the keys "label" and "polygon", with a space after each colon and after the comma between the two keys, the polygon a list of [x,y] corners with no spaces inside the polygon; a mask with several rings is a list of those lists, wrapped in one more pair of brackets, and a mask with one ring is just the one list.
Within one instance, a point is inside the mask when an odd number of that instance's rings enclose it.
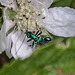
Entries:
{"label": "large blurred green leaf filling the bottom below the flower", "polygon": [[75,37],[54,40],[38,48],[25,60],[13,60],[0,75],[72,75],[75,74]]}

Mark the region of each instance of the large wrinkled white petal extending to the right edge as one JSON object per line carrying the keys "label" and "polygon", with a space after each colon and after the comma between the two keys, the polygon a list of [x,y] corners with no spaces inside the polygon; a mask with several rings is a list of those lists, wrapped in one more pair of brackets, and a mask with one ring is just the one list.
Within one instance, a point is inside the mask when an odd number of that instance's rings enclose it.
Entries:
{"label": "large wrinkled white petal extending to the right edge", "polygon": [[43,21],[46,29],[57,36],[75,36],[75,9],[69,7],[50,8]]}

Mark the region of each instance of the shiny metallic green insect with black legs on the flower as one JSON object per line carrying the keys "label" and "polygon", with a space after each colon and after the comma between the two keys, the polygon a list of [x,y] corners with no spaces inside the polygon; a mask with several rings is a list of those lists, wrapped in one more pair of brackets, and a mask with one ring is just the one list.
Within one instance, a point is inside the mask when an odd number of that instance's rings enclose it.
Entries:
{"label": "shiny metallic green insect with black legs on the flower", "polygon": [[51,37],[45,37],[44,39],[41,36],[39,37],[39,35],[42,34],[42,32],[39,33],[39,30],[36,32],[36,34],[33,34],[29,31],[26,31],[25,34],[28,38],[30,38],[27,42],[34,40],[32,45],[30,45],[32,48],[34,46],[34,43],[37,45],[43,45],[52,40]]}

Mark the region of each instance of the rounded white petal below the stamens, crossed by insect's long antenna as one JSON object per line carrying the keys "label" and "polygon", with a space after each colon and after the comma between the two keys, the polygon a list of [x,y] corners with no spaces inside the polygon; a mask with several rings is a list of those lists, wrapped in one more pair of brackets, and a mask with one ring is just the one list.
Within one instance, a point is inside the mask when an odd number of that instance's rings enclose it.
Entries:
{"label": "rounded white petal below the stamens, crossed by insect's long antenna", "polygon": [[15,59],[21,58],[23,60],[32,55],[32,48],[28,46],[26,38],[25,40],[24,38],[24,34],[21,34],[20,32],[14,33],[11,37],[13,43],[11,54]]}

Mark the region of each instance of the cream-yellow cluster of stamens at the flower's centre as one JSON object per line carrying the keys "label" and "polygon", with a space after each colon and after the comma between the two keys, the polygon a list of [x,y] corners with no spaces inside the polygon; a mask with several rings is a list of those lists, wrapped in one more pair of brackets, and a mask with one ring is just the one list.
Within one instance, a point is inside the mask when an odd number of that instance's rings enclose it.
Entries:
{"label": "cream-yellow cluster of stamens at the flower's centre", "polygon": [[[41,28],[41,21],[39,21],[37,18],[42,15],[43,11],[33,9],[33,7],[35,6],[33,6],[34,3],[32,3],[31,0],[22,0],[19,5],[20,6],[17,9],[16,15],[18,26],[17,29],[25,32],[27,29],[30,31],[34,31]],[[41,8],[43,8],[42,5]]]}

